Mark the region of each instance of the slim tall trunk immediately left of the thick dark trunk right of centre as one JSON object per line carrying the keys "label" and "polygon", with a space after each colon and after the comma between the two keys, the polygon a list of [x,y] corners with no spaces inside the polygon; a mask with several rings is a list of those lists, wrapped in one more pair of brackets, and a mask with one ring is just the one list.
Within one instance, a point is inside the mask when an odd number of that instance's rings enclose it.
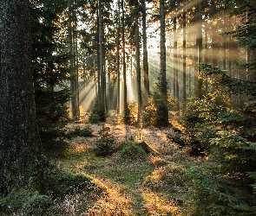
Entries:
{"label": "slim tall trunk immediately left of the thick dark trunk right of centre", "polygon": [[144,75],[144,100],[148,105],[149,77],[148,77],[148,43],[147,43],[147,7],[146,1],[142,0],[142,37],[143,37],[143,75]]}

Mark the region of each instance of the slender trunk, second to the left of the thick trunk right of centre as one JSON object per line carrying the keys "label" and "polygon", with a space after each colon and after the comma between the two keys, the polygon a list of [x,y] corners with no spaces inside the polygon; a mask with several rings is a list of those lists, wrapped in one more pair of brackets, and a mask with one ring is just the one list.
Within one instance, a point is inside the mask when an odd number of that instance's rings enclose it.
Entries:
{"label": "slender trunk, second to the left of the thick trunk right of centre", "polygon": [[[138,0],[135,2],[135,7],[139,8]],[[136,78],[137,78],[137,94],[138,94],[138,120],[141,119],[141,52],[140,52],[140,27],[139,27],[139,12],[136,14],[135,21],[135,47],[136,47]]]}

